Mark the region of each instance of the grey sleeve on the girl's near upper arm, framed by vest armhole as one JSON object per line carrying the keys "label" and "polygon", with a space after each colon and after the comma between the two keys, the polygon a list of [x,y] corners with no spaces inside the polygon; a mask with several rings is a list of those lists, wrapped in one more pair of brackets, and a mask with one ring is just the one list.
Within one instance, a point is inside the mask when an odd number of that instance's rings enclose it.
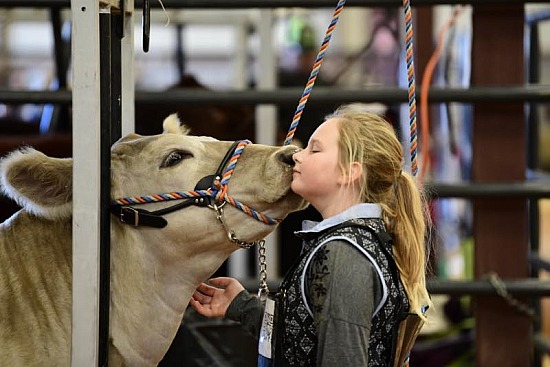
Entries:
{"label": "grey sleeve on the girl's near upper arm, framed by vest armhole", "polygon": [[372,315],[382,288],[370,260],[331,241],[307,269],[307,296],[317,325],[317,366],[367,366]]}

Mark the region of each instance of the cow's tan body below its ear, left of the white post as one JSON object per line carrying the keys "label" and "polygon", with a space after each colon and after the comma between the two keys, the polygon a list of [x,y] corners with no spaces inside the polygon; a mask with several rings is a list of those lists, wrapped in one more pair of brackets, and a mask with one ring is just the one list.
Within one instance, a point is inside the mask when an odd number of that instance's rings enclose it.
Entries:
{"label": "cow's tan body below its ear, left of the white post", "polygon": [[69,365],[71,220],[24,211],[0,225],[0,361]]}

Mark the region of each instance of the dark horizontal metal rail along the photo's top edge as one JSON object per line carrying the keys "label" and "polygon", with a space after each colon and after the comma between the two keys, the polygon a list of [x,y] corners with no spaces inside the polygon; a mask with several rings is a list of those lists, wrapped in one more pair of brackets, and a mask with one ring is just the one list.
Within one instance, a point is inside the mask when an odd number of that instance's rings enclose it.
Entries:
{"label": "dark horizontal metal rail along the photo's top edge", "polygon": [[[506,5],[545,3],[547,0],[412,0],[412,6],[472,4]],[[141,7],[142,0],[136,0],[135,6]],[[163,0],[167,9],[248,9],[248,8],[326,8],[336,6],[336,0]],[[348,0],[346,7],[400,7],[401,0]],[[160,7],[159,2],[151,1],[152,7]],[[0,7],[50,8],[70,7],[70,0],[0,0]]]}

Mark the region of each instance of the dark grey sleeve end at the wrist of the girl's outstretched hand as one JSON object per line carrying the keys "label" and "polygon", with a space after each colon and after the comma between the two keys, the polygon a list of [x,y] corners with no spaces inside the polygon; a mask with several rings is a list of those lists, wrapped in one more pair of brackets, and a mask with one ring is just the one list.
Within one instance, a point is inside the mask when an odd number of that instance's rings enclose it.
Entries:
{"label": "dark grey sleeve end at the wrist of the girl's outstretched hand", "polygon": [[245,330],[257,338],[260,335],[262,325],[262,302],[258,296],[243,290],[229,304],[225,317],[240,322]]}

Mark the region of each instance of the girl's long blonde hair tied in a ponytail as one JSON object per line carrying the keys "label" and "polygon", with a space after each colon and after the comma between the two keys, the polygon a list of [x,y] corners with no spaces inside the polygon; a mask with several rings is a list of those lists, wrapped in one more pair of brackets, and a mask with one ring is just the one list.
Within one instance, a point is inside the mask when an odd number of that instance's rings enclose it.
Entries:
{"label": "girl's long blonde hair tied in a ponytail", "polygon": [[[402,170],[403,148],[393,127],[362,104],[344,105],[328,118],[339,120],[340,165],[350,172],[361,164],[361,202],[382,207],[386,228],[393,234],[393,255],[409,297],[410,312],[423,316],[431,305],[426,289],[426,229],[429,221],[423,190]],[[350,175],[351,177],[351,175]]]}

